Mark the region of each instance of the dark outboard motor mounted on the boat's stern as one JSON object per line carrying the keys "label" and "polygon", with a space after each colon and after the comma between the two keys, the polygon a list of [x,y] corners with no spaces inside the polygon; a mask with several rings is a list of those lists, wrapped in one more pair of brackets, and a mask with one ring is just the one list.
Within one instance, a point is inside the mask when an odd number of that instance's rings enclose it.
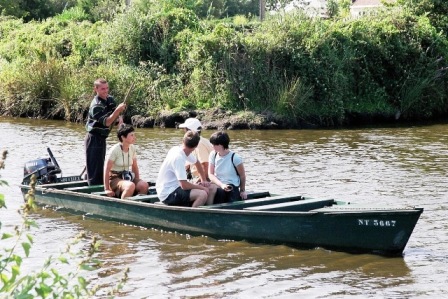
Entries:
{"label": "dark outboard motor mounted on the boat's stern", "polygon": [[57,174],[61,173],[58,162],[50,148],[47,148],[50,158],[41,158],[28,161],[23,169],[23,184],[29,184],[33,174],[37,177],[38,184],[50,184],[58,181]]}

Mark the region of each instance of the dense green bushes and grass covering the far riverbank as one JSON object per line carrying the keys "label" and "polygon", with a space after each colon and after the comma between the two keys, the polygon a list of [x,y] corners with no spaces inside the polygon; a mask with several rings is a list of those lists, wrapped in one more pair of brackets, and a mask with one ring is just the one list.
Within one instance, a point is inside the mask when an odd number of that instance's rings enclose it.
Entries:
{"label": "dense green bushes and grass covering the far riverbank", "polygon": [[448,115],[445,1],[358,19],[330,1],[329,19],[280,10],[264,22],[251,0],[34,2],[53,3],[53,16],[0,22],[1,114],[82,121],[105,77],[117,99],[134,82],[128,114],[156,119],[216,108],[290,127]]}

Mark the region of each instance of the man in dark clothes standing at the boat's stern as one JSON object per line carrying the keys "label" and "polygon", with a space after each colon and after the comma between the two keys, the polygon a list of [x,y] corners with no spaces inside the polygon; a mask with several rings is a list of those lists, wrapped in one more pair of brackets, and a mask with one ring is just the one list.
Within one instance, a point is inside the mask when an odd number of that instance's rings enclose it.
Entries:
{"label": "man in dark clothes standing at the boat's stern", "polygon": [[109,84],[105,79],[95,80],[93,89],[96,96],[90,104],[84,139],[89,186],[103,184],[106,138],[117,119],[120,124],[123,122],[120,113],[126,109],[125,103],[120,103],[117,107],[114,98],[109,95]]}

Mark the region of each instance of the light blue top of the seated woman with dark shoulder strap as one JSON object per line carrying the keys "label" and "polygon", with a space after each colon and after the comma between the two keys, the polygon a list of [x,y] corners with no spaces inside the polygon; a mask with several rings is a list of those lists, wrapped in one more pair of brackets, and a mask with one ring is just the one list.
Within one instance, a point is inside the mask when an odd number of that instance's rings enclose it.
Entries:
{"label": "light blue top of the seated woman with dark shoulder strap", "polygon": [[[238,167],[241,163],[243,163],[243,159],[238,154],[234,154],[233,163],[232,163],[232,155],[234,152],[229,151],[229,153],[223,157],[219,154],[216,154],[215,151],[210,153],[208,158],[208,163],[215,165],[215,176],[223,183],[223,184],[232,184],[234,186],[240,186],[240,176],[236,172],[235,167]],[[215,158],[216,156],[216,158]]]}

